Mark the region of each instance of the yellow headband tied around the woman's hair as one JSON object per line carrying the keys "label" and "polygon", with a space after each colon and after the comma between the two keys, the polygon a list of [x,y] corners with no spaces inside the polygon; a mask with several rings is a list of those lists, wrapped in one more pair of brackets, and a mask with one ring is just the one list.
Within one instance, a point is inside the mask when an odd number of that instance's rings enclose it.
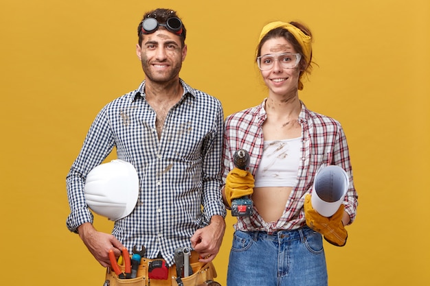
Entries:
{"label": "yellow headband tied around the woman's hair", "polygon": [[[277,21],[277,22],[271,22],[271,23],[265,25],[263,27],[263,29],[261,30],[261,34],[260,34],[260,38],[258,39],[258,43],[261,42],[262,38],[264,38],[264,36],[266,36],[267,33],[269,33],[272,29],[276,29],[276,28],[284,28],[288,32],[293,34],[294,38],[297,40],[297,42],[299,42],[300,46],[303,49],[304,58],[305,58],[306,62],[309,63],[310,53],[312,52],[312,46],[310,44],[312,42],[312,38],[310,38],[310,36],[304,34],[304,32],[302,32],[301,29],[295,27],[295,25],[291,25],[290,23],[284,23],[284,22]],[[258,51],[257,51],[257,53],[258,53]]]}

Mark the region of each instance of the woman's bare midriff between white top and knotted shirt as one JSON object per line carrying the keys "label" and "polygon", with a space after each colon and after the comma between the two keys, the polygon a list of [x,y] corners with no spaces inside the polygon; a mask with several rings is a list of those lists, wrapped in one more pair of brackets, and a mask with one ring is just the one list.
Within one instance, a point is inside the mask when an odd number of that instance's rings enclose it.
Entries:
{"label": "woman's bare midriff between white top and knotted shirt", "polygon": [[293,187],[254,188],[252,200],[264,222],[276,222],[284,213]]}

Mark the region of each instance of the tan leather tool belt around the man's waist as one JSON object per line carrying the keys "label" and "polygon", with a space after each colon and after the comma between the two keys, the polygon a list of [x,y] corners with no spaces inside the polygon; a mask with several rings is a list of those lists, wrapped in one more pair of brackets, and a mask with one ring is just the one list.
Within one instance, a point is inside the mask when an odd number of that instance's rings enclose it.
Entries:
{"label": "tan leather tool belt around the man's waist", "polygon": [[[122,279],[107,267],[106,270],[106,281],[104,285],[109,286],[200,286],[210,285],[211,281],[216,277],[216,270],[212,262],[201,263],[199,262],[199,253],[192,251],[190,254],[190,266],[192,267],[192,275],[187,277],[181,277],[177,280],[176,266],[172,265],[168,267],[166,277],[157,277],[150,275],[150,267],[152,263],[161,262],[163,259],[147,259],[142,258],[137,269],[136,278]],[[120,269],[124,271],[124,265],[119,265]],[[179,281],[179,285],[178,284]],[[219,284],[216,284],[219,285]]]}

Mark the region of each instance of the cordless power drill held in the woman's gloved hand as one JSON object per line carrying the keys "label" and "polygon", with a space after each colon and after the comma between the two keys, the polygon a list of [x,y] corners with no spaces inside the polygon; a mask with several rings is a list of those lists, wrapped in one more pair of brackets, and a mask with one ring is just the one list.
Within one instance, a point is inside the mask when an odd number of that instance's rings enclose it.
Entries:
{"label": "cordless power drill held in the woman's gloved hand", "polygon": [[[238,169],[246,170],[249,165],[249,153],[239,149],[234,152],[233,163]],[[231,215],[234,217],[249,217],[253,214],[253,202],[248,195],[231,201]]]}

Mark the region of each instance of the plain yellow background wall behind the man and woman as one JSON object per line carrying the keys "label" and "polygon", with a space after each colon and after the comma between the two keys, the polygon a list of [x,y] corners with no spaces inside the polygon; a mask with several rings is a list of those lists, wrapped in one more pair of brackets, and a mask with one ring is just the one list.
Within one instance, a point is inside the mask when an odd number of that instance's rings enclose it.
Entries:
{"label": "plain yellow background wall behind the man and woman", "polygon": [[[267,94],[253,64],[265,23],[312,29],[319,66],[300,97],[343,124],[359,191],[347,245],[326,245],[329,283],[428,283],[428,0],[3,0],[0,284],[102,285],[104,269],[65,227],[65,176],[100,108],[143,80],[136,27],[157,7],[188,28],[181,78],[218,97],[225,115]],[[215,260],[222,285],[233,223]]]}

